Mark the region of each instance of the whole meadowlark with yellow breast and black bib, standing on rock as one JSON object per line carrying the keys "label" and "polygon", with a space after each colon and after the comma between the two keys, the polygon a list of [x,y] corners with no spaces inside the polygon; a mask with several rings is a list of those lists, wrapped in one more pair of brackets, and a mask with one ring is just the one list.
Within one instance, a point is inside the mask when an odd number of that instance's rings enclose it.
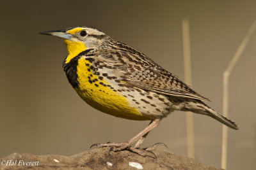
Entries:
{"label": "whole meadowlark with yellow breast and black bib, standing on rock", "polygon": [[130,150],[147,155],[157,143],[141,149],[148,132],[175,110],[207,115],[238,129],[237,125],[212,110],[177,76],[157,65],[145,54],[110,38],[92,27],[71,27],[41,34],[65,39],[68,55],[63,69],[77,94],[93,108],[115,117],[151,120],[139,134],[125,143],[95,144],[113,151]]}

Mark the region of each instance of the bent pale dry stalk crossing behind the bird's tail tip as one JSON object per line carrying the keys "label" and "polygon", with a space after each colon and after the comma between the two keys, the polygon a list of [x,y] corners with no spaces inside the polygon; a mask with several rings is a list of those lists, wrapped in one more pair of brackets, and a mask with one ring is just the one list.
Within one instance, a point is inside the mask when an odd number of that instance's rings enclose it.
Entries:
{"label": "bent pale dry stalk crossing behind the bird's tail tip", "polygon": [[[239,45],[232,57],[230,63],[228,64],[227,69],[223,73],[223,116],[228,117],[228,78],[231,74],[234,66],[237,63],[237,60],[241,57],[241,54],[244,51],[244,48],[248,44],[248,41],[255,32],[256,29],[256,20],[253,22],[252,26],[246,32],[243,41]],[[227,140],[228,140],[228,129],[226,125],[222,126],[222,150],[221,150],[221,168],[227,169]]]}

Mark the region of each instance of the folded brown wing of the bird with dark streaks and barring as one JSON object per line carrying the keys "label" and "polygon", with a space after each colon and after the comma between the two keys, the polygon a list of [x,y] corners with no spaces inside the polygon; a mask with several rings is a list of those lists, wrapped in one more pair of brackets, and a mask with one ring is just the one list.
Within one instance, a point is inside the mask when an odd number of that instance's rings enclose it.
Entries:
{"label": "folded brown wing of the bird with dark streaks and barring", "polygon": [[129,48],[129,50],[125,48],[100,50],[98,51],[98,56],[105,60],[105,64],[109,60],[113,73],[120,77],[120,80],[126,81],[134,87],[168,96],[209,101],[209,99],[200,96],[186,83],[179,80],[177,76],[163,69],[146,55],[138,51],[134,52],[131,49],[135,50],[134,48]]}

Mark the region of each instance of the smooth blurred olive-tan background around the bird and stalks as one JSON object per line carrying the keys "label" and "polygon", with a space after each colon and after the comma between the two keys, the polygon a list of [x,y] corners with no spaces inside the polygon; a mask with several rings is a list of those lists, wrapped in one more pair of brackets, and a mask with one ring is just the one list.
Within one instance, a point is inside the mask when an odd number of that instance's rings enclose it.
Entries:
{"label": "smooth blurred olive-tan background around the bird and stalks", "polygon": [[[183,18],[189,19],[193,89],[222,110],[222,76],[256,19],[256,1],[0,1],[0,157],[13,152],[73,155],[93,143],[127,141],[148,122],[115,118],[84,103],[68,84],[61,39],[38,32],[97,27],[184,80]],[[254,43],[253,43],[254,42]],[[230,75],[228,169],[256,167],[256,36]],[[195,157],[221,166],[221,124],[194,115]],[[186,114],[176,111],[143,146],[187,154]]]}

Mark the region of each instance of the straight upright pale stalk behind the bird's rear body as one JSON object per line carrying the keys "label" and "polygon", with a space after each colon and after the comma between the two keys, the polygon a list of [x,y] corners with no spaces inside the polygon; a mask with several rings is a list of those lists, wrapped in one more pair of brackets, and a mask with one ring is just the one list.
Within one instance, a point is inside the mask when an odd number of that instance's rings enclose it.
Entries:
{"label": "straight upright pale stalk behind the bird's rear body", "polygon": [[[182,20],[182,41],[183,41],[185,82],[191,86],[192,85],[191,55],[190,55],[189,21],[188,21],[188,19]],[[187,125],[188,157],[195,158],[193,113],[188,112],[188,111],[186,112],[186,125]]]}

